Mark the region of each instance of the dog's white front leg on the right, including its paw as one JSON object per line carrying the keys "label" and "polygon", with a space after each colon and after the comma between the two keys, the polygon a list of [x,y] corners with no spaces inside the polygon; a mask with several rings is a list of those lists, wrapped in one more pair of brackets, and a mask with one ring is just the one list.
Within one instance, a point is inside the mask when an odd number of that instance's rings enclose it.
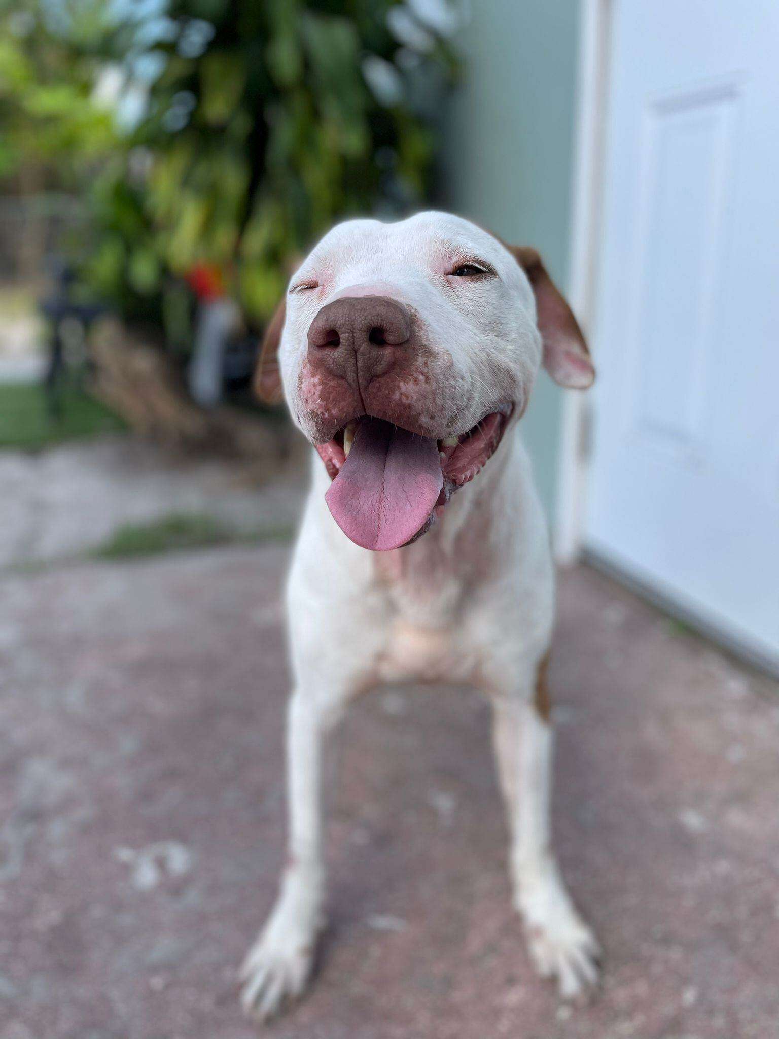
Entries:
{"label": "dog's white front leg on the right, including its paw", "polygon": [[499,779],[511,831],[514,904],[525,923],[536,969],[556,978],[563,998],[598,979],[599,948],[565,887],[550,836],[553,734],[545,659],[520,688],[493,700]]}

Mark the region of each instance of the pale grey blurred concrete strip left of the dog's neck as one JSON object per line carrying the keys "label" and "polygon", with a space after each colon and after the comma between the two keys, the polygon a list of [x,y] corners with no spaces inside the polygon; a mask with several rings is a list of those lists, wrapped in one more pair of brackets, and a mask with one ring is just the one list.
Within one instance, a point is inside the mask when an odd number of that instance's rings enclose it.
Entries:
{"label": "pale grey blurred concrete strip left of the dog's neck", "polygon": [[182,457],[109,436],[39,454],[0,452],[0,570],[95,549],[124,524],[185,513],[236,532],[294,527],[305,487],[304,452],[261,481],[248,465]]}

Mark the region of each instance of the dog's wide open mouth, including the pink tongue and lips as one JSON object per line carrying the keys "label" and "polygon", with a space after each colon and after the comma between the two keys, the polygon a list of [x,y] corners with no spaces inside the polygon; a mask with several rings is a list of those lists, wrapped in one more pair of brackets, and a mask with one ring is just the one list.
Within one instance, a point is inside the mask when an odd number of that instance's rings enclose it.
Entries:
{"label": "dog's wide open mouth, including the pink tongue and lips", "polygon": [[461,436],[442,439],[372,416],[348,422],[317,445],[332,480],[325,498],[335,523],[364,549],[408,544],[494,454],[511,411],[505,405]]}

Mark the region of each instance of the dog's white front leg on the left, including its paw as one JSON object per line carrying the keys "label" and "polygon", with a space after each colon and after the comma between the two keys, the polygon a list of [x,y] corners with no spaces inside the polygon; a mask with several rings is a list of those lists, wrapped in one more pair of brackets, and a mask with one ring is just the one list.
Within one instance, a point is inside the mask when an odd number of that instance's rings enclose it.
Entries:
{"label": "dog's white front leg on the left, including its paw", "polygon": [[287,719],[289,855],[275,906],[241,968],[244,1010],[266,1020],[299,996],[324,923],[322,755],[337,720],[331,702],[298,688]]}

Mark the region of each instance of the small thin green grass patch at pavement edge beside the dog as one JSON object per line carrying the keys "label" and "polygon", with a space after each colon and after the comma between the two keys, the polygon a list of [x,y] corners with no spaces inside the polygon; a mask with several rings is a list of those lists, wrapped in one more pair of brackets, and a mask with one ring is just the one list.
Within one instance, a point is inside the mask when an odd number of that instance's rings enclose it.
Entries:
{"label": "small thin green grass patch at pavement edge beside the dog", "polygon": [[209,549],[217,544],[287,541],[291,535],[292,531],[287,527],[242,531],[206,514],[171,513],[150,523],[117,527],[89,556],[92,559],[135,559],[165,552]]}

